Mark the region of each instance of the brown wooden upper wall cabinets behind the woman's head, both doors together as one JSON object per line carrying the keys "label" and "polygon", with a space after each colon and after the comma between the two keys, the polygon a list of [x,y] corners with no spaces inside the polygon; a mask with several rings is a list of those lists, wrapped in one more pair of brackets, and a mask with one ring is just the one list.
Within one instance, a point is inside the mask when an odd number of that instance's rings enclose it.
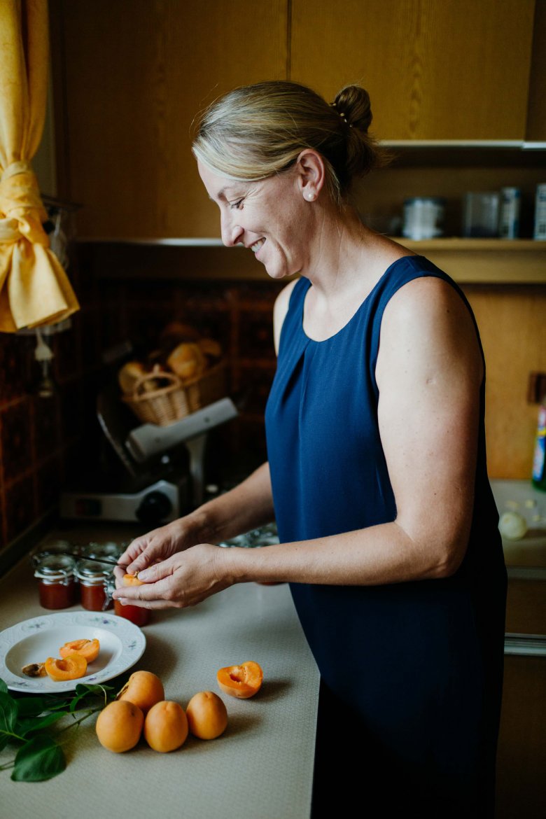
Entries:
{"label": "brown wooden upper wall cabinets behind the woman's head, both doors together", "polygon": [[[546,2],[536,4],[50,0],[57,194],[81,203],[80,238],[218,237],[190,150],[192,120],[229,88],[261,79],[297,79],[328,100],[362,83],[386,140],[546,139]],[[461,191],[476,185],[471,170],[464,185],[458,174]],[[405,179],[396,169],[377,190],[367,182],[363,217],[444,192],[440,170],[434,179],[427,171]],[[493,188],[502,184],[521,179],[499,174]]]}

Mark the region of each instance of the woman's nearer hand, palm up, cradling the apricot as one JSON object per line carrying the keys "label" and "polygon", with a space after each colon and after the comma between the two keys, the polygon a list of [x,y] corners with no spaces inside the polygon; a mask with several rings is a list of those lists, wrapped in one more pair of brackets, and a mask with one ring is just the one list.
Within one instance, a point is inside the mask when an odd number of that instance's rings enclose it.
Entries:
{"label": "woman's nearer hand, palm up, cradling the apricot", "polygon": [[228,551],[210,543],[197,544],[138,572],[142,586],[116,589],[113,597],[122,605],[145,609],[194,606],[234,583],[228,574]]}

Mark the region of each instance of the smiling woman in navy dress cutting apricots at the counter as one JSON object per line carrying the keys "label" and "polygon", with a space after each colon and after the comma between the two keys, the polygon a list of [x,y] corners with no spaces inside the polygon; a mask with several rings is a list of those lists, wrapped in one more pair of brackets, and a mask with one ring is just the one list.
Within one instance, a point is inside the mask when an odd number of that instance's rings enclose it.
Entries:
{"label": "smiling woman in navy dress cutting apricots at the counter", "polygon": [[[205,112],[193,152],[224,244],[300,274],[274,308],[268,464],[133,541],[121,564],[145,584],[115,596],[182,607],[289,581],[322,679],[314,815],[335,788],[368,816],[490,817],[506,572],[483,354],[457,285],[350,206],[383,159],[371,120],[362,88],[328,105],[288,82]],[[214,545],[273,517],[278,546]]]}

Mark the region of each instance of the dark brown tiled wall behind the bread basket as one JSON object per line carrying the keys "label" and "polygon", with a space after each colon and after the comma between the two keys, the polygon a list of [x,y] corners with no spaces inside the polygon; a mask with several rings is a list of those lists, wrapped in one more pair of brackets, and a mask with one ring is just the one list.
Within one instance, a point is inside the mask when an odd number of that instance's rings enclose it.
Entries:
{"label": "dark brown tiled wall behind the bread basket", "polygon": [[228,358],[239,418],[210,432],[210,479],[246,474],[264,459],[263,410],[275,359],[274,283],[192,283],[97,278],[86,259],[70,269],[82,310],[49,340],[55,395],[36,395],[34,336],[0,333],[0,549],[56,509],[70,486],[108,450],[96,396],[103,352],[124,341],[151,351],[165,324],[179,319],[216,338]]}

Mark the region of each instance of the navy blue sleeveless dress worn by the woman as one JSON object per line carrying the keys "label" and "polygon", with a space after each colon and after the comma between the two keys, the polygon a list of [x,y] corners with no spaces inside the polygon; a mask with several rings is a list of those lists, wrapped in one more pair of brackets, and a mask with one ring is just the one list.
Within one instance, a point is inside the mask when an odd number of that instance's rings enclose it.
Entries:
{"label": "navy blue sleeveless dress worn by the woman", "polygon": [[[309,280],[300,278],[291,292],[265,415],[281,542],[395,519],[375,368],[387,303],[423,276],[449,282],[472,314],[460,288],[422,256],[390,265],[349,323],[323,342],[303,330]],[[476,816],[493,815],[506,569],[485,461],[484,395],[485,382],[472,532],[452,577],[382,586],[291,584],[327,694],[321,707],[329,704],[331,712],[316,779],[337,770],[346,780],[350,770],[362,787],[365,777],[369,799],[389,788],[393,806],[405,788],[404,805],[412,807],[413,799],[423,817],[451,815],[445,805],[438,812],[446,793],[453,815],[457,806],[472,816],[476,799]],[[352,767],[340,733],[347,722],[359,748],[357,758],[350,755]],[[351,785],[345,781],[343,793]]]}

